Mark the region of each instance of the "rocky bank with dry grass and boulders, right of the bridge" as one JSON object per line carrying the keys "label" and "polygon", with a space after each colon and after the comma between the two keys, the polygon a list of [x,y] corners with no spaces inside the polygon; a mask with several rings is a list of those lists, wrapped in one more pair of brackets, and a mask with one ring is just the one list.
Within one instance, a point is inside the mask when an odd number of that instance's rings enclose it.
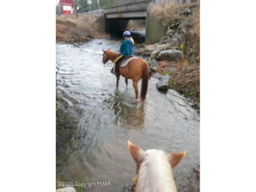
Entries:
{"label": "rocky bank with dry grass and boulders, right of the bridge", "polygon": [[161,3],[150,5],[148,12],[168,30],[159,43],[138,53],[148,56],[152,71],[169,75],[168,88],[183,94],[200,111],[200,4]]}

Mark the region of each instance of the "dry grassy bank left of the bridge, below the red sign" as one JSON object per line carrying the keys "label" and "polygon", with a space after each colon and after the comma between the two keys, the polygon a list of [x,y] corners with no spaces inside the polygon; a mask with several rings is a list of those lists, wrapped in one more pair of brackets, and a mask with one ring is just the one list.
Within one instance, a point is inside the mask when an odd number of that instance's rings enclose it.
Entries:
{"label": "dry grassy bank left of the bridge, below the red sign", "polygon": [[75,15],[56,16],[56,41],[74,43],[106,37],[106,34],[93,27],[95,20],[95,15],[83,15],[78,18]]}

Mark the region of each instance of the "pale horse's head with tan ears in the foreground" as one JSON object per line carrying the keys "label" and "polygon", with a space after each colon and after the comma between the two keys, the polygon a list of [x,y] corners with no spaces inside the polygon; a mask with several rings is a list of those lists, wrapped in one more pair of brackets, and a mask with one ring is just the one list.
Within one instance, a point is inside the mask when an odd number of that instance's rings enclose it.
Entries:
{"label": "pale horse's head with tan ears in the foreground", "polygon": [[[184,158],[186,151],[169,154],[165,154],[164,151],[157,149],[144,151],[129,141],[128,147],[137,164],[137,191],[143,191],[144,189],[147,189],[148,191],[175,189],[173,191],[176,191],[172,168],[175,168],[175,166],[177,166],[177,164]],[[152,182],[154,185],[148,186],[146,185],[146,181]]]}

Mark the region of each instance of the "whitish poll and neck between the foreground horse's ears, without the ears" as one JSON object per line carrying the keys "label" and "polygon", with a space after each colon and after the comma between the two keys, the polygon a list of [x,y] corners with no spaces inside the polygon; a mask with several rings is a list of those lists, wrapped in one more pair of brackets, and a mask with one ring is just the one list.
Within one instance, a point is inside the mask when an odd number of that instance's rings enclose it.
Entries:
{"label": "whitish poll and neck between the foreground horse's ears, without the ears", "polygon": [[171,165],[164,151],[146,151],[146,158],[139,167],[136,191],[177,191]]}

